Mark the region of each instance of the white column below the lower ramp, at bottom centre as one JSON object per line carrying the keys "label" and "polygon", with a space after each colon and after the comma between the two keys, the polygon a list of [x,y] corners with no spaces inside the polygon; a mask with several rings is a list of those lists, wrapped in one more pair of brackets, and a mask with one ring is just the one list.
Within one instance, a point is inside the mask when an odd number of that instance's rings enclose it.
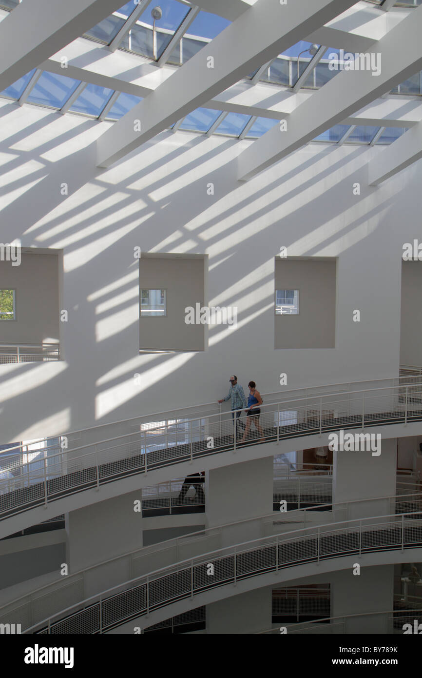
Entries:
{"label": "white column below the lower ramp, at bottom centre", "polygon": [[270,629],[271,594],[266,586],[207,605],[207,634],[236,635]]}

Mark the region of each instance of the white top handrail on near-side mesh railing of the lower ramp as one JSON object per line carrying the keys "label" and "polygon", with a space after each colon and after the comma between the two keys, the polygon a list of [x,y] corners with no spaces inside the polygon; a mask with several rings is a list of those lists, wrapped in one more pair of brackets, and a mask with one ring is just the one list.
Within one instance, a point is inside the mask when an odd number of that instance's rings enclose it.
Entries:
{"label": "white top handrail on near-side mesh railing of the lower ramp", "polygon": [[[394,521],[397,522],[398,524],[402,525],[402,529],[403,529],[404,517],[405,516],[416,515],[416,514],[419,515],[420,513],[421,513],[420,511],[412,511],[412,512],[409,512],[409,513],[398,513],[398,514],[394,513],[394,514],[389,514],[389,515],[371,516],[371,517],[368,517],[368,518],[354,518],[354,519],[351,519],[351,520],[348,520],[348,521],[339,521],[339,523],[326,523],[325,525],[316,525],[314,527],[309,527],[309,526],[303,527],[299,530],[291,530],[290,532],[284,532],[284,533],[282,533],[282,535],[270,535],[268,537],[261,537],[261,538],[258,538],[258,539],[249,540],[247,542],[240,542],[238,544],[232,544],[230,546],[224,546],[221,549],[215,549],[215,551],[209,551],[207,553],[201,553],[200,555],[194,556],[193,558],[189,557],[189,558],[186,558],[186,559],[179,561],[177,563],[172,563],[171,565],[166,565],[165,567],[159,567],[157,570],[153,570],[152,572],[148,572],[148,574],[142,574],[138,577],[129,579],[127,582],[122,582],[121,584],[117,584],[116,586],[112,586],[112,587],[110,587],[110,589],[106,589],[105,591],[100,591],[99,593],[91,595],[88,598],[83,599],[82,601],[78,601],[74,605],[71,605],[70,607],[66,607],[64,610],[60,610],[60,612],[56,612],[55,614],[50,615],[48,618],[45,618],[44,620],[37,622],[33,626],[30,626],[29,629],[26,629],[24,631],[24,633],[28,633],[29,631],[32,631],[32,629],[35,629],[39,626],[43,626],[43,624],[46,624],[51,619],[65,615],[66,613],[70,612],[70,610],[73,610],[75,607],[82,607],[82,606],[86,607],[87,605],[92,604],[94,602],[94,600],[96,600],[96,599],[101,601],[105,596],[112,595],[112,592],[116,591],[116,589],[121,589],[122,586],[129,586],[129,584],[135,584],[136,582],[140,582],[140,580],[146,580],[146,582],[148,582],[148,581],[150,581],[150,578],[153,578],[153,577],[156,578],[156,576],[163,576],[163,573],[166,570],[173,570],[173,573],[174,573],[175,570],[178,571],[178,570],[184,569],[183,566],[184,565],[186,566],[186,563],[190,563],[191,566],[193,567],[193,560],[196,559],[196,558],[201,558],[201,559],[204,559],[204,560],[210,560],[211,561],[213,559],[212,558],[213,554],[215,554],[214,559],[216,559],[218,557],[222,557],[221,554],[223,554],[225,551],[229,551],[230,549],[232,549],[233,553],[236,554],[238,552],[238,549],[241,546],[249,546],[251,548],[251,544],[255,544],[255,543],[259,544],[259,546],[263,546],[263,545],[265,545],[265,544],[263,544],[263,542],[267,542],[268,540],[274,540],[274,539],[275,539],[276,544],[278,545],[278,544],[280,544],[280,541],[281,542],[287,541],[289,537],[290,537],[290,539],[297,538],[297,536],[299,536],[298,533],[300,533],[300,532],[305,533],[305,534],[303,534],[303,537],[310,537],[314,534],[314,532],[316,532],[316,534],[318,534],[318,542],[319,542],[321,534],[324,534],[324,533],[321,533],[322,527],[329,527],[330,532],[341,532],[341,531],[347,530],[347,527],[343,527],[342,530],[338,527],[337,527],[337,529],[333,529],[333,525],[340,525],[340,524],[341,525],[347,525],[348,523],[360,523],[358,529],[362,530],[362,522],[365,521],[365,520],[381,519],[381,522],[370,523],[369,525],[366,525],[365,527],[374,527],[375,525],[383,525],[385,527],[386,525],[388,525],[388,523],[383,521],[383,519],[394,518]],[[398,521],[398,519],[400,519],[400,522]],[[280,536],[282,537],[282,540],[279,540]],[[287,538],[287,539],[285,539],[285,538]],[[394,549],[394,550],[396,550],[396,549]],[[335,557],[335,555],[333,554],[333,555],[331,555],[331,557]],[[180,567],[180,566],[182,566],[182,567]]]}

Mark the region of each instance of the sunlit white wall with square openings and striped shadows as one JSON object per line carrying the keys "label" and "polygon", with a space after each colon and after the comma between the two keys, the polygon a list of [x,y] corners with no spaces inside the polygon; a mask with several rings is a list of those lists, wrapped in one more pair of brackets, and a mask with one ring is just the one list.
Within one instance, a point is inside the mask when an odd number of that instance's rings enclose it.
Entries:
{"label": "sunlit white wall with square openings and striped shadows", "polygon": [[[9,102],[1,115],[3,169],[13,160],[21,174],[1,201],[0,241],[63,248],[69,313],[64,362],[0,367],[1,442],[213,401],[232,372],[263,393],[280,389],[280,372],[289,388],[398,374],[402,243],[419,229],[420,163],[373,188],[366,163],[383,149],[311,144],[240,183],[236,156],[251,142],[163,132],[104,170],[93,142],[110,123]],[[203,353],[138,355],[135,246],[208,254],[207,302],[237,306],[236,329],[211,327]],[[281,246],[338,257],[335,350],[274,349]]]}

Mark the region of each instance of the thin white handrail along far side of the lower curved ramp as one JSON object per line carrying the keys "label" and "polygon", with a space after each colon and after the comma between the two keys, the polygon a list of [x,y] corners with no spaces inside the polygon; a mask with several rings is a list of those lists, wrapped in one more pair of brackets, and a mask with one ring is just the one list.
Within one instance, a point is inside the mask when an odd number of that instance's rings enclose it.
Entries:
{"label": "thin white handrail along far side of the lower curved ramp", "polygon": [[[396,494],[392,496],[383,496],[383,497],[370,497],[366,499],[352,499],[348,500],[345,502],[330,502],[329,504],[315,504],[314,506],[308,506],[303,509],[293,509],[294,513],[303,513],[306,514],[307,511],[315,511],[316,506],[318,506],[318,509],[324,508],[324,507],[332,507],[332,513],[334,511],[338,511],[339,507],[343,506],[343,508],[348,508],[351,504],[360,504],[360,503],[366,503],[366,502],[371,502],[371,501],[385,501],[385,500],[399,500],[402,501],[406,497],[420,497],[422,498],[422,492],[412,492],[410,494]],[[135,554],[142,555],[142,552],[145,554],[149,553],[155,553],[156,551],[159,551],[161,549],[166,549],[171,546],[170,542],[173,542],[173,545],[177,547],[177,544],[186,539],[186,538],[192,538],[194,536],[201,536],[203,537],[204,535],[207,536],[207,533],[212,533],[212,532],[218,532],[221,530],[226,529],[227,527],[235,527],[236,525],[243,525],[245,523],[251,523],[251,522],[256,522],[256,521],[263,521],[266,519],[281,519],[282,517],[287,517],[291,513],[291,511],[287,511],[284,513],[280,513],[279,511],[272,511],[272,513],[266,513],[265,515],[257,516],[257,517],[252,517],[252,518],[245,518],[242,520],[237,520],[237,521],[232,521],[230,523],[223,523],[222,525],[214,525],[213,527],[207,527],[205,530],[195,530],[195,532],[189,532],[188,534],[182,534],[177,537],[173,537],[170,539],[166,539],[163,542],[157,542],[156,544],[150,544],[149,546],[141,546],[140,549],[134,549],[133,551],[127,551],[126,553],[122,553],[121,555],[113,556],[112,558],[108,558],[104,561],[100,561],[100,563],[96,563],[95,565],[89,565],[89,567],[84,567],[83,570],[78,570],[77,572],[72,572],[69,574],[71,577],[77,578],[78,576],[84,576],[85,572],[90,572],[91,570],[96,570],[97,567],[103,567],[104,565],[108,565],[108,563],[113,563],[115,561],[118,561],[120,559],[125,559],[125,558],[130,558],[133,557]],[[413,512],[413,513],[419,513],[419,511]],[[392,515],[399,515],[399,514],[392,514]],[[405,515],[410,515],[410,513],[406,513]],[[293,518],[293,516],[292,516]],[[368,519],[372,519],[371,516],[368,517]],[[350,519],[352,522],[354,521],[360,521],[361,518],[355,518],[355,519]],[[363,520],[363,519],[362,519]],[[288,523],[289,521],[286,521]],[[339,521],[340,523],[343,523],[344,521]],[[336,523],[327,523],[329,525],[335,525]],[[318,524],[319,525],[319,524]],[[319,527],[324,527],[324,525],[319,525]],[[309,527],[303,527],[303,528],[297,528],[297,530],[290,530],[289,532],[280,532],[280,535],[285,535],[285,534],[290,534],[290,532],[296,532],[299,530],[308,530],[310,529]],[[270,535],[270,537],[274,537],[276,535]],[[262,537],[260,538],[262,539]],[[156,546],[156,549],[153,547]],[[148,551],[149,549],[149,551]],[[166,565],[166,567],[169,567]],[[143,575],[142,575],[143,576]],[[16,600],[13,601],[13,603],[17,603],[23,598],[28,597],[28,595],[36,595],[43,591],[44,589],[48,589],[50,586],[53,586],[56,582],[60,582],[62,579],[58,579],[55,582],[49,582],[49,584],[44,584],[43,586],[40,586],[39,589],[35,589],[34,591],[30,591],[30,593],[26,593],[25,595],[21,596],[20,598],[17,598]],[[0,606],[0,612],[3,610],[4,607],[8,607],[11,603],[6,603],[5,605]]]}

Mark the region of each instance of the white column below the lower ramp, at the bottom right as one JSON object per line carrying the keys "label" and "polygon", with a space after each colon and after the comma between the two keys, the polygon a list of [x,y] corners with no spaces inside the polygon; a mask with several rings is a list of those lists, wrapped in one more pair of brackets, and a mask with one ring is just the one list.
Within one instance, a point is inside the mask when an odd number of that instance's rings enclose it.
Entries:
{"label": "white column below the lower ramp, at the bottom right", "polygon": [[[394,565],[362,567],[358,575],[353,574],[351,566],[350,570],[333,572],[330,578],[333,617],[393,609]],[[386,624],[385,615],[371,614],[346,620],[345,633],[385,634],[392,633],[392,629]]]}

